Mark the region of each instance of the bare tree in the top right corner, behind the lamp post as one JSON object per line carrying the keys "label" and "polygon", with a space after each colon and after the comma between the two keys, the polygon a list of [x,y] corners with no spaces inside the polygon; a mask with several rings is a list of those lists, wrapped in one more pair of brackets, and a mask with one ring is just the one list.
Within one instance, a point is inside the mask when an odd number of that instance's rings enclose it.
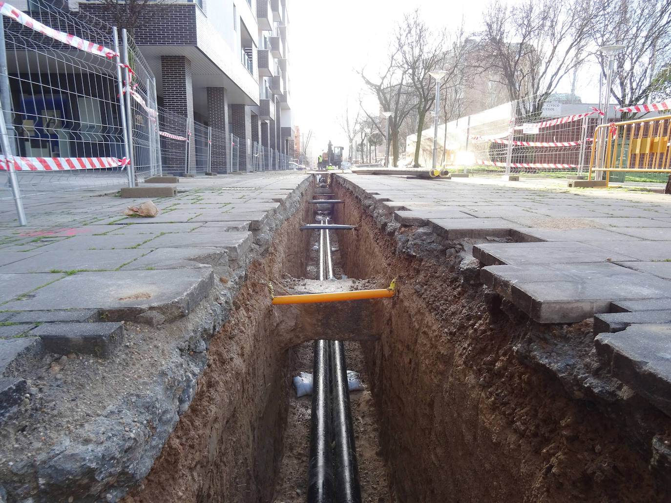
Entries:
{"label": "bare tree in the top right corner, behind the lamp post", "polygon": [[[615,56],[609,91],[618,105],[646,103],[655,93],[664,93],[671,65],[671,0],[598,0],[597,6],[594,42],[625,46]],[[605,77],[608,58],[598,51],[596,55]],[[624,114],[623,119],[635,115]]]}

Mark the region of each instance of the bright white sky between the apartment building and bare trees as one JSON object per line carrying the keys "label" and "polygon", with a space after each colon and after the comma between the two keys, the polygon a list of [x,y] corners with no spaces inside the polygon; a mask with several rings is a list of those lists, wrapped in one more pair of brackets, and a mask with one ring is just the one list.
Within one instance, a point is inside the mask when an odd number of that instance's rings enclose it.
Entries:
{"label": "bright white sky between the apartment building and bare trees", "polygon": [[[486,3],[486,0],[415,0],[413,3],[290,0],[291,109],[294,123],[300,126],[301,132],[313,129],[310,146],[315,152],[325,149],[329,139],[334,145],[347,146],[338,118],[343,115],[348,100],[350,109],[358,107],[362,81],[355,70],[364,66],[375,68],[380,58],[386,57],[391,33],[406,13],[419,7],[423,19],[434,27],[458,25],[463,16],[467,31],[474,31]],[[592,80],[592,77],[582,80]],[[586,86],[588,82],[581,84]],[[568,91],[568,82],[562,87],[567,89],[560,92]],[[597,94],[584,97],[583,101],[597,99]],[[374,99],[366,103],[375,109]]]}

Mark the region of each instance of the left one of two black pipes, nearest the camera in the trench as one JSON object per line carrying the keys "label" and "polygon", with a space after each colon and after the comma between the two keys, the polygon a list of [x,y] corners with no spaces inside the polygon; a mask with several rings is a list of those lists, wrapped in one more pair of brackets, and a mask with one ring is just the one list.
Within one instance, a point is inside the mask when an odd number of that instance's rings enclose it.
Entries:
{"label": "left one of two black pipes, nearest the camera in the trench", "polygon": [[328,341],[315,341],[307,503],[333,502],[331,387]]}

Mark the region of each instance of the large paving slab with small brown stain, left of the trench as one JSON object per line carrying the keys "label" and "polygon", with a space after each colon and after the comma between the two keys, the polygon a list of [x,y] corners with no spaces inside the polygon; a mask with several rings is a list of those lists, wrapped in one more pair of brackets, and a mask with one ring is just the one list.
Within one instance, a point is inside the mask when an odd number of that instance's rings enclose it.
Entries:
{"label": "large paving slab with small brown stain, left of the trench", "polygon": [[[3,275],[11,276],[11,275]],[[14,276],[34,276],[22,274]],[[214,284],[211,270],[80,272],[3,306],[9,311],[101,309],[108,319],[132,320],[154,309],[167,319],[187,315]]]}

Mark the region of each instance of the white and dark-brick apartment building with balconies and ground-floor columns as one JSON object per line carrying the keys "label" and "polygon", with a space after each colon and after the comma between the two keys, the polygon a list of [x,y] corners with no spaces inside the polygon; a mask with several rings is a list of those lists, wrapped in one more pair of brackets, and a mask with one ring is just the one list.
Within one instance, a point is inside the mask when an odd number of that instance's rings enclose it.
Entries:
{"label": "white and dark-brick apartment building with balconies and ground-floor columns", "polygon": [[[38,3],[14,4],[38,12]],[[115,24],[99,0],[69,0],[61,8]],[[225,145],[213,148],[211,169],[227,171],[231,134],[240,171],[278,169],[278,154],[293,156],[286,0],[170,0],[147,9],[133,35],[156,78],[158,105],[221,133]],[[196,142],[190,148],[195,167]]]}

